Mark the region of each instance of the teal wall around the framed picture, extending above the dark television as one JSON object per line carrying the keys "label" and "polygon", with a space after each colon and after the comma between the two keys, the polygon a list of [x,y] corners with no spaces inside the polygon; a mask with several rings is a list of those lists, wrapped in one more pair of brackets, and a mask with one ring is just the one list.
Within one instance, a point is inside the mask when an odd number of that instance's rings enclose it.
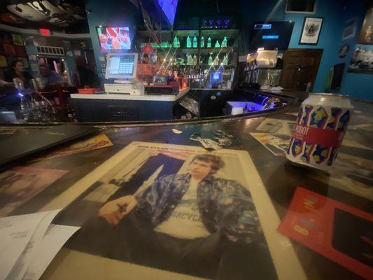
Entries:
{"label": "teal wall around the framed picture, extending above the dark television", "polygon": [[[314,92],[324,92],[330,68],[335,64],[345,63],[344,77],[339,93],[360,99],[373,99],[373,76],[360,73],[348,73],[350,59],[356,48],[356,37],[360,31],[364,16],[363,0],[316,0],[316,13],[285,13],[286,0],[244,1],[244,26],[251,27],[255,21],[283,21],[294,22],[293,34],[289,48],[321,48],[323,57],[318,69]],[[317,45],[299,45],[304,17],[323,18],[323,27]],[[356,19],[356,35],[342,41],[344,25],[347,20]],[[247,43],[248,40],[246,40]],[[338,53],[342,45],[349,44],[350,51],[346,57],[339,58]],[[365,45],[364,48],[373,48]]]}

